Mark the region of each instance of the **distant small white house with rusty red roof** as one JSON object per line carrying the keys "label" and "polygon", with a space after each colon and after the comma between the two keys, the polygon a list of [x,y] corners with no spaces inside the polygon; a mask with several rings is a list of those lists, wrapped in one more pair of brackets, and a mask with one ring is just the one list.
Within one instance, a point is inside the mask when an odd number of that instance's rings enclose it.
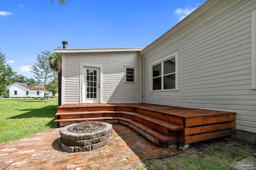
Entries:
{"label": "distant small white house with rusty red roof", "polygon": [[44,86],[29,86],[24,83],[15,82],[7,86],[10,98],[43,98]]}

